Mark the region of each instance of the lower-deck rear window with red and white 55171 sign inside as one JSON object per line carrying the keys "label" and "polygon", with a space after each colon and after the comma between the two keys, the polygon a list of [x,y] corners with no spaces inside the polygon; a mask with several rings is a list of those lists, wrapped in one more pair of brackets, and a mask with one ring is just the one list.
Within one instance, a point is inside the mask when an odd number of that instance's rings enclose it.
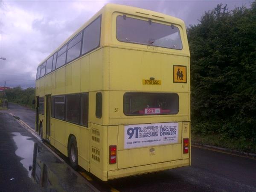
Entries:
{"label": "lower-deck rear window with red and white 55171 sign inside", "polygon": [[125,115],[163,115],[179,112],[177,93],[133,93],[124,95]]}

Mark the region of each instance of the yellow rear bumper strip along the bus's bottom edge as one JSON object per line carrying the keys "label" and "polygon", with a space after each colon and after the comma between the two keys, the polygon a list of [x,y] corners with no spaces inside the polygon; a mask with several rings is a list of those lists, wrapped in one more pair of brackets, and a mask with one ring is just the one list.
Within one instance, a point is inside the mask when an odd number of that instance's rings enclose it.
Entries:
{"label": "yellow rear bumper strip along the bus's bottom edge", "polygon": [[145,166],[130,167],[126,169],[117,169],[108,171],[108,179],[115,179],[119,177],[127,177],[131,175],[140,175],[144,173],[163,171],[166,169],[173,169],[177,167],[189,166],[189,159],[175,160],[164,163],[155,163]]}

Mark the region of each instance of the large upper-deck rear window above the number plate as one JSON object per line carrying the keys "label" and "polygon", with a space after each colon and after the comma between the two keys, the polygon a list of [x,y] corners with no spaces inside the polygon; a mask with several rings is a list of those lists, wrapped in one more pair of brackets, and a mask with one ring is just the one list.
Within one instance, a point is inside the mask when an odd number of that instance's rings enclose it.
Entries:
{"label": "large upper-deck rear window above the number plate", "polygon": [[116,17],[116,38],[127,43],[182,49],[180,30],[174,25],[131,17]]}

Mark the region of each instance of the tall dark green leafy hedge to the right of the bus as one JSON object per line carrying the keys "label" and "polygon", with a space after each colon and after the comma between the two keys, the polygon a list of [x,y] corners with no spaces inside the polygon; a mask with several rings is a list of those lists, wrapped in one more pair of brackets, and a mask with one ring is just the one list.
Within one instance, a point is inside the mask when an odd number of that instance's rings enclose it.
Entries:
{"label": "tall dark green leafy hedge to the right of the bus", "polygon": [[217,5],[187,30],[192,132],[256,143],[256,1]]}

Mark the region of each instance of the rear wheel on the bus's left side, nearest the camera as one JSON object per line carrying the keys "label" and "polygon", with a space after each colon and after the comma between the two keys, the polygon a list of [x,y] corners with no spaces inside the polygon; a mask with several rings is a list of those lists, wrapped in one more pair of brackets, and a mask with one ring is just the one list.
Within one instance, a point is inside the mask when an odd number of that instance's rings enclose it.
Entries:
{"label": "rear wheel on the bus's left side, nearest the camera", "polygon": [[70,166],[73,169],[77,169],[78,166],[78,152],[77,152],[77,143],[76,137],[71,136],[68,143],[68,158],[70,160]]}

